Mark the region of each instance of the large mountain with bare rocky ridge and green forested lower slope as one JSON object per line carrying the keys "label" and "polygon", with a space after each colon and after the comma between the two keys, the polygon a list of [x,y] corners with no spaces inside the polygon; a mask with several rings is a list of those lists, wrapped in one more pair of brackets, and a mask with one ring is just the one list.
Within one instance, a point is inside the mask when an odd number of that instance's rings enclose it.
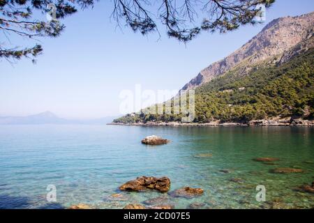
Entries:
{"label": "large mountain with bare rocky ridge and green forested lower slope", "polygon": [[[314,13],[279,18],[202,70],[183,88],[195,89],[193,122],[314,125],[313,26]],[[141,113],[114,123],[170,123],[181,117]]]}

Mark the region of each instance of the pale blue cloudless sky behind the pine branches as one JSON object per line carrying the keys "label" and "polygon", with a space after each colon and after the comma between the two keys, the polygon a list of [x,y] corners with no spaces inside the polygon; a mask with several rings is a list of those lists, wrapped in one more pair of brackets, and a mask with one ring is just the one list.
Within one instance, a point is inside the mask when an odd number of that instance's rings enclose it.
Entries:
{"label": "pale blue cloudless sky behind the pine branches", "polygon": [[[181,89],[202,68],[234,52],[265,24],[242,26],[226,34],[202,33],[184,45],[161,32],[142,36],[110,22],[112,3],[97,3],[63,20],[59,38],[42,39],[43,55],[34,65],[23,59],[0,61],[0,116],[50,111],[64,118],[119,115],[125,89]],[[313,0],[277,0],[266,23],[314,10]],[[45,18],[45,15],[42,15]],[[1,38],[4,38],[1,36]],[[15,39],[13,38],[13,41]],[[17,45],[29,40],[16,39]]]}

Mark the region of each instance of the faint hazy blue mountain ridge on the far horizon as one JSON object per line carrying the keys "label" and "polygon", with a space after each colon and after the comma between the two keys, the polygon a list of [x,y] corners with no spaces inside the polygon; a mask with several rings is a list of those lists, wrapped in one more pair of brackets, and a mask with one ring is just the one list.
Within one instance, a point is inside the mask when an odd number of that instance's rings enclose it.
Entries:
{"label": "faint hazy blue mountain ridge on the far horizon", "polygon": [[117,117],[105,117],[90,120],[68,120],[59,118],[52,112],[43,112],[31,116],[3,116],[0,117],[0,125],[40,125],[40,124],[82,124],[105,125]]}

